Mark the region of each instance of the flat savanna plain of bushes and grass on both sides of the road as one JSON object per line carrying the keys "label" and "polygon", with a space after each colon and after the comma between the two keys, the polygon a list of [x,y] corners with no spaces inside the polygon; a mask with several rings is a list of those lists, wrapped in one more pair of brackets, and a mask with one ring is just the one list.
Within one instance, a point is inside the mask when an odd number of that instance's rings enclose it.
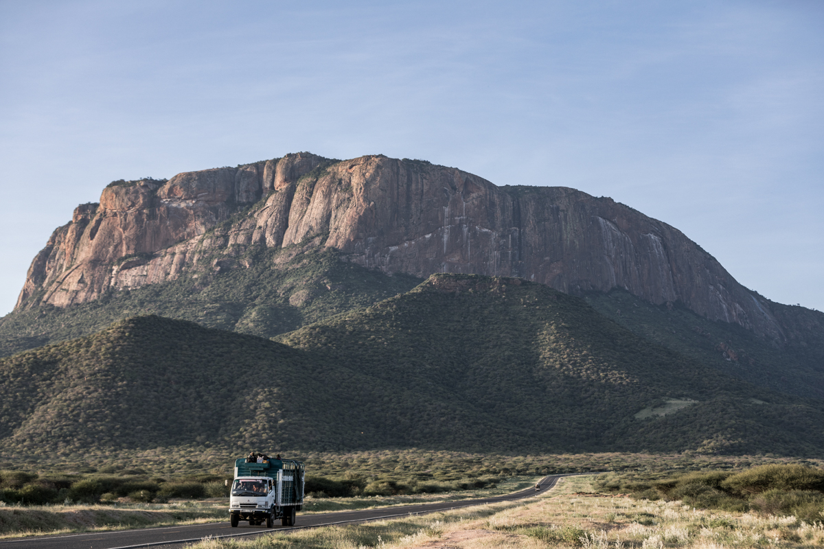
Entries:
{"label": "flat savanna plain of bushes and grass on both sides of the road", "polygon": [[[413,451],[307,458],[317,474],[307,477],[301,514],[499,495],[528,488],[547,472],[610,472],[563,477],[551,491],[517,502],[253,538],[204,539],[194,547],[824,546],[824,468],[819,460],[684,454],[491,457]],[[199,477],[162,478],[158,472],[139,470],[113,476],[111,469],[76,475],[3,471],[3,484],[15,479],[26,484],[0,494],[0,537],[227,519],[225,486],[217,470]],[[50,503],[33,505],[35,486],[45,490],[49,482],[68,481],[68,488]]]}

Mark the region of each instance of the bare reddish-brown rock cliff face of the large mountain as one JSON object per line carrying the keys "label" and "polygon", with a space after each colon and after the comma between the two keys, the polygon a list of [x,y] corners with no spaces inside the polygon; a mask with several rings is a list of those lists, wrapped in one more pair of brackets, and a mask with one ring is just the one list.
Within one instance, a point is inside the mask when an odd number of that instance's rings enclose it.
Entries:
{"label": "bare reddish-brown rock cliff face of the large mountain", "polygon": [[54,231],[17,307],[245,268],[250,247],[307,242],[385,272],[521,277],[569,293],[624,288],[785,339],[770,302],[672,226],[573,188],[497,187],[385,156],[299,153],[110,185]]}

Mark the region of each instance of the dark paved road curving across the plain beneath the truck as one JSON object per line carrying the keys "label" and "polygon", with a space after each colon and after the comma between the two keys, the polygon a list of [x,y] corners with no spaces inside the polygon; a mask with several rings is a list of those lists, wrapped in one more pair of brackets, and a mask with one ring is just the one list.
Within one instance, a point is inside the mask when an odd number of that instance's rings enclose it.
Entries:
{"label": "dark paved road curving across the plain beneath the truck", "polygon": [[520,500],[550,490],[560,477],[565,475],[550,475],[541,481],[541,490],[534,488],[513,492],[512,494],[496,495],[481,500],[443,501],[419,505],[399,505],[382,509],[363,509],[356,511],[337,511],[335,513],[297,514],[297,525],[293,527],[265,528],[249,526],[241,523],[237,528],[229,525],[229,520],[220,523],[191,524],[187,526],[171,526],[167,528],[140,528],[138,530],[119,530],[117,532],[98,532],[69,534],[63,536],[25,537],[0,541],[0,549],[127,549],[133,547],[165,547],[180,549],[187,542],[197,542],[200,539],[213,537],[249,537],[259,536],[271,532],[288,532],[301,528],[328,526],[340,523],[362,523],[368,520],[388,519],[410,514],[433,513],[448,509],[471,507],[497,501]]}

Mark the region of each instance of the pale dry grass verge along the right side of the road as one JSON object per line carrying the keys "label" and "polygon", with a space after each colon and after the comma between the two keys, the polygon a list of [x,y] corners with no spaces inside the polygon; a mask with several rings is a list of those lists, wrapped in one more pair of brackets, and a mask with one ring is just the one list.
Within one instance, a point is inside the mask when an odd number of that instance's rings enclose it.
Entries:
{"label": "pale dry grass verge along the right side of the road", "polygon": [[[680,502],[592,494],[570,477],[549,495],[406,519],[315,528],[254,539],[210,539],[194,549],[579,547],[722,549],[824,546],[824,523],[692,509]],[[824,520],[824,517],[822,517]]]}

